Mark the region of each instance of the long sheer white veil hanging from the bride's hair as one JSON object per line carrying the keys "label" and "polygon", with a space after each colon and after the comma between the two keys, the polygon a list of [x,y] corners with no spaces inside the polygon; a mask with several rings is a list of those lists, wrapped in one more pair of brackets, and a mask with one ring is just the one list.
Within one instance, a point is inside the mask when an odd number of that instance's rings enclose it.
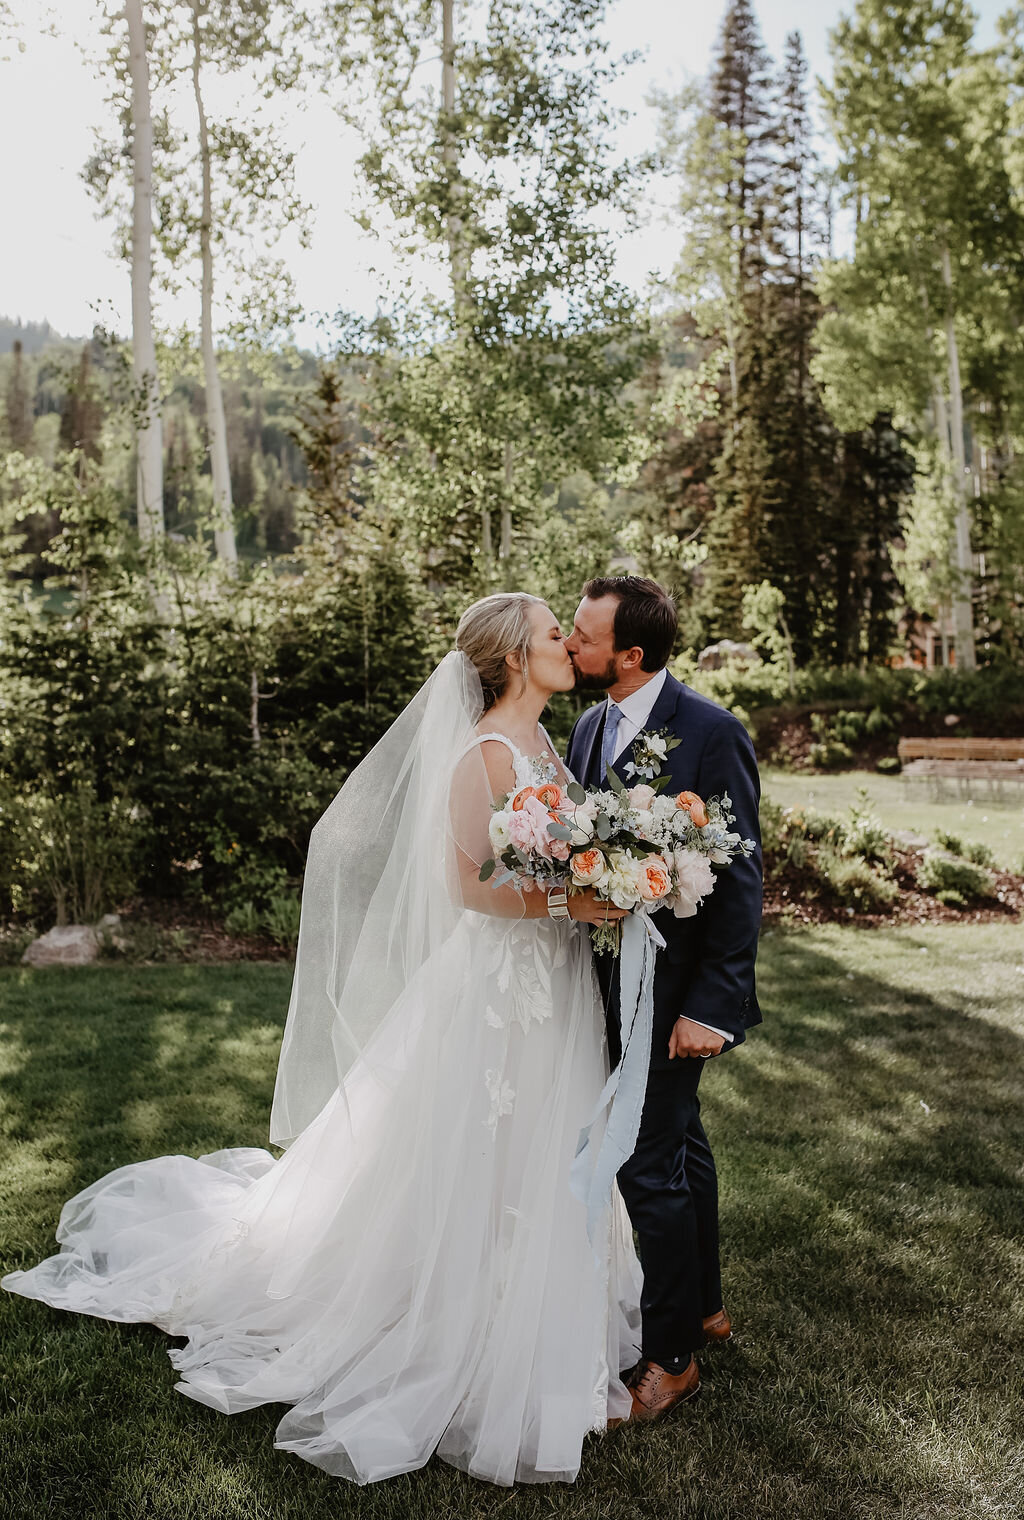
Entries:
{"label": "long sheer white veil hanging from the bride's hair", "polygon": [[270,1116],[277,1145],[316,1117],[466,910],[456,854],[488,853],[482,713],[472,663],[445,655],[313,830]]}

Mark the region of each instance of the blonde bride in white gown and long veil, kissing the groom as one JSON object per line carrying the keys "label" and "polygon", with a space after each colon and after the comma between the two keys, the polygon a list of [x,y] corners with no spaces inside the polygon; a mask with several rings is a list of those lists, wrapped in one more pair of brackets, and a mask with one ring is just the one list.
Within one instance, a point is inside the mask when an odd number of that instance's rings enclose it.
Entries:
{"label": "blonde bride in white gown and long veil, kissing the groom", "polygon": [[629,1415],[640,1266],[618,1195],[568,1187],[608,1070],[591,892],[479,880],[494,796],[567,774],[539,725],[574,684],[536,597],[485,597],[313,831],[270,1117],[286,1146],[123,1166],[3,1286],[150,1321],[178,1388],[290,1404],[277,1446],[359,1484],[433,1452],[571,1482]]}

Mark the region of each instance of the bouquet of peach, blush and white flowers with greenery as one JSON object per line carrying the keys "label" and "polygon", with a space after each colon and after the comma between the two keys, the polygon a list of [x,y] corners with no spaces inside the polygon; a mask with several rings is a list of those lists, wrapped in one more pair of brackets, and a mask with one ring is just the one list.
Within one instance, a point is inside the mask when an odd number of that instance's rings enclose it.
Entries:
{"label": "bouquet of peach, blush and white flowers with greenery", "polygon": [[[631,912],[668,907],[691,918],[714,891],[713,866],[754,850],[751,839],[729,831],[728,795],[705,803],[696,792],[659,796],[646,783],[626,787],[612,771],[608,780],[609,790],[548,781],[498,798],[489,825],[494,857],[480,880],[570,892],[593,886]],[[620,924],[599,926],[593,942],[617,955]]]}

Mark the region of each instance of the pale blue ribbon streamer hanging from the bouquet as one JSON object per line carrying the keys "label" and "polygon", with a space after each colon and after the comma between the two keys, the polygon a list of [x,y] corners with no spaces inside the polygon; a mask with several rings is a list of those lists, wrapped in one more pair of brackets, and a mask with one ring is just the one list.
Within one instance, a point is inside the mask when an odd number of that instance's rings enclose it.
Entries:
{"label": "pale blue ribbon streamer hanging from the bouquet", "polygon": [[[579,1132],[570,1187],[586,1205],[586,1234],[597,1236],[620,1166],[637,1148],[640,1117],[647,1093],[650,1040],[655,1023],[655,953],[665,939],[647,914],[623,921],[618,955],[618,1028],[621,1058],[611,1073],[591,1119]],[[594,1125],[606,1117],[600,1146],[591,1140]]]}

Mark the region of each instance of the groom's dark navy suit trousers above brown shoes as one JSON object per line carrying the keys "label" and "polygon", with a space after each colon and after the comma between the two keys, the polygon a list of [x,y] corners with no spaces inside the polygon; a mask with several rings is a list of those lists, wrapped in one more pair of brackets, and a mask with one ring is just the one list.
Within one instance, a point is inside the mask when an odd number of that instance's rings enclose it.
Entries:
{"label": "groom's dark navy suit trousers above brown shoes", "polygon": [[[706,1061],[668,1059],[678,1006],[673,977],[675,968],[659,962],[647,1096],[637,1148],[618,1172],[644,1272],[641,1353],[670,1373],[682,1371],[705,1344],[702,1321],[722,1309],[719,1180],[697,1097]],[[600,958],[599,980],[606,1000],[608,1053],[615,1066],[621,1053],[617,962],[609,965],[608,958]]]}

